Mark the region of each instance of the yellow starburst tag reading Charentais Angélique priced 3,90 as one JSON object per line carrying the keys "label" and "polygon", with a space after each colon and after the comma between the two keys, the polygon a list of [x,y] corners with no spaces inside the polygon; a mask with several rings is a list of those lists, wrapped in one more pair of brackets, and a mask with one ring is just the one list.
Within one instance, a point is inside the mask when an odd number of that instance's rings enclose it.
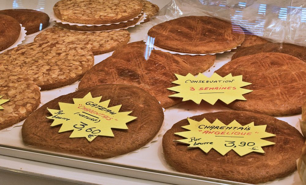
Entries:
{"label": "yellow starburst tag reading Charentais Ang\u00e9lique priced 3,90", "polygon": [[214,148],[223,156],[230,150],[244,156],[251,152],[264,153],[263,146],[275,144],[262,139],[275,136],[266,132],[267,125],[255,126],[252,122],[242,126],[235,120],[225,125],[218,119],[213,123],[205,118],[202,121],[187,119],[190,125],[182,126],[182,128],[189,131],[174,133],[186,139],[176,141],[188,144],[190,148],[198,147],[205,153]]}

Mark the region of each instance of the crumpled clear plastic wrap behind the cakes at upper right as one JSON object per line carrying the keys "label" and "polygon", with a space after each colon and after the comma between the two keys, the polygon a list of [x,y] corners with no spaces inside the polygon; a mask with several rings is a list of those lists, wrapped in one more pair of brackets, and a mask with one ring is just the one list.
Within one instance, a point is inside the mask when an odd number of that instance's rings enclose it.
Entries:
{"label": "crumpled clear plastic wrap behind the cakes at upper right", "polygon": [[172,0],[152,17],[153,25],[188,15],[209,15],[239,25],[271,42],[306,46],[306,1]]}

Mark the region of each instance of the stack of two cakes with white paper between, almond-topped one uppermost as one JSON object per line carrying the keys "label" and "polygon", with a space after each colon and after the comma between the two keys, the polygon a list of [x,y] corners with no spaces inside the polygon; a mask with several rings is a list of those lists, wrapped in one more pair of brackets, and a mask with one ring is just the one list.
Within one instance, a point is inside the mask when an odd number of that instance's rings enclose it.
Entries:
{"label": "stack of two cakes with white paper between, almond-topped one uppermost", "polygon": [[61,0],[54,7],[59,26],[78,31],[127,28],[144,21],[143,4],[137,0]]}

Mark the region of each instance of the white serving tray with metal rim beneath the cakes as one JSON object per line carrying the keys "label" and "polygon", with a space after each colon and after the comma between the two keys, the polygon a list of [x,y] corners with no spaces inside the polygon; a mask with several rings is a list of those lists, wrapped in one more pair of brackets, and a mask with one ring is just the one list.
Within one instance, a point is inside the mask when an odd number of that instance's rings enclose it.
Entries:
{"label": "white serving tray with metal rim beneath the cakes", "polygon": [[[130,42],[143,40],[149,28],[151,28],[150,22],[129,28],[128,30],[131,33]],[[25,43],[32,42],[33,39],[34,37],[27,38]],[[95,64],[111,56],[111,54],[112,52],[95,56]],[[207,76],[212,75],[215,70],[229,62],[232,55],[233,52],[217,54],[215,64],[203,74]],[[44,104],[58,96],[74,92],[77,86],[78,82],[58,89],[42,91],[41,102]],[[162,154],[162,135],[170,129],[173,124],[187,117],[222,110],[229,110],[229,108],[218,103],[214,106],[203,102],[200,105],[196,105],[191,101],[166,109],[164,112],[164,124],[166,123],[166,125],[162,128],[164,132],[159,135],[157,141],[152,142],[149,147],[142,148],[138,152],[131,152],[127,155],[104,160],[51,152],[25,146],[21,138],[22,122],[20,122],[15,124],[13,127],[0,130],[0,155],[171,184],[244,184],[176,172],[174,168],[171,168],[166,163]],[[300,117],[300,115],[294,115],[289,117],[280,117],[278,119],[286,121],[290,125],[299,129],[298,118]],[[296,185],[300,184],[300,180],[298,174],[293,173],[283,179],[276,179],[273,182],[265,184]]]}

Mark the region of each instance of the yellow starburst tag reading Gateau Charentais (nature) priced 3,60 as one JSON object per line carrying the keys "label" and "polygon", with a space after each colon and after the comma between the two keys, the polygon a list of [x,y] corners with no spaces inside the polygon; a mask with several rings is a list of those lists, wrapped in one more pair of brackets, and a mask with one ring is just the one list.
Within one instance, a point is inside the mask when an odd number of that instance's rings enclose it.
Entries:
{"label": "yellow starburst tag reading Gateau Charentais (nature) priced 3,60", "polygon": [[130,112],[119,112],[121,105],[108,107],[110,100],[100,102],[102,96],[73,98],[74,104],[58,102],[60,110],[48,109],[51,126],[61,125],[58,132],[73,130],[69,137],[86,137],[91,142],[97,136],[114,137],[113,129],[128,129],[126,123],[136,119]]}

